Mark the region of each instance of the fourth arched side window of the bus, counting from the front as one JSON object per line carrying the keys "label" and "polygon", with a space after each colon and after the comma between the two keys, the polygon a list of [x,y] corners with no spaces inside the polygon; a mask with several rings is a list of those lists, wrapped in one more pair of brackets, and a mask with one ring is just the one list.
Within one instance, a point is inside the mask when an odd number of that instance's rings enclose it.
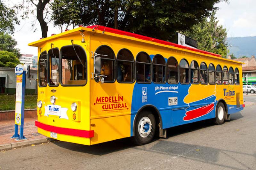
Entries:
{"label": "fourth arched side window of the bus, counting from the front", "polygon": [[165,60],[160,54],[156,54],[153,58],[153,82],[165,82]]}

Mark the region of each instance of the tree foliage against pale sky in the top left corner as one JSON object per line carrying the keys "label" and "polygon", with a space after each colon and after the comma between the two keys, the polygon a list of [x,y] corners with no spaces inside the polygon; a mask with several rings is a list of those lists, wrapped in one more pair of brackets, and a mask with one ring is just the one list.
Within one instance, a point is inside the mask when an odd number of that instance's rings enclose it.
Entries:
{"label": "tree foliage against pale sky in the top left corner", "polygon": [[15,24],[20,25],[15,11],[0,0],[0,32],[13,34]]}

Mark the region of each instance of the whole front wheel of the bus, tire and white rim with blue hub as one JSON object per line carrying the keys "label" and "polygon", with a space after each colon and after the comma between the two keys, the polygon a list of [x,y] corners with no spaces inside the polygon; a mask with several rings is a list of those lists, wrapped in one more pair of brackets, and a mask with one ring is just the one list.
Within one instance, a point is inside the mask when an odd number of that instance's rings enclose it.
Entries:
{"label": "whole front wheel of the bus, tire and white rim with blue hub", "polygon": [[143,145],[150,143],[156,132],[156,120],[152,113],[142,111],[139,113],[135,123],[134,143]]}

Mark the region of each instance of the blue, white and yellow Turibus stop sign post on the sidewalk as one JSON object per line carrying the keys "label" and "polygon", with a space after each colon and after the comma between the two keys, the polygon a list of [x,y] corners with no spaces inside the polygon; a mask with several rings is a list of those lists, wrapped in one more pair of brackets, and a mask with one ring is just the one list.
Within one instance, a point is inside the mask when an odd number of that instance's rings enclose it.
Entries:
{"label": "blue, white and yellow Turibus stop sign post on the sidewalk", "polygon": [[[27,66],[21,64],[15,67],[16,77],[16,100],[15,100],[15,129],[12,138],[15,140],[26,139],[23,135],[24,127],[24,102],[26,88],[26,71]],[[20,125],[20,135],[18,134],[18,126]]]}

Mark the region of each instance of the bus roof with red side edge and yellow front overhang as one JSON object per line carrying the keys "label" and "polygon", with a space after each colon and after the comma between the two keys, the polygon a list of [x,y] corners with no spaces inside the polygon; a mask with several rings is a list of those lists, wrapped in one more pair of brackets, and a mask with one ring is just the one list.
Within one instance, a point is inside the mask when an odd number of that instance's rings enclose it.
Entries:
{"label": "bus roof with red side edge and yellow front overhang", "polygon": [[109,28],[109,27],[104,27],[104,26],[100,26],[100,25],[92,25],[92,26],[87,26],[87,27],[79,26],[78,28],[75,28],[75,29],[72,29],[72,30],[66,30],[65,32],[57,34],[57,35],[53,34],[51,37],[42,38],[42,39],[40,39],[38,41],[35,41],[33,43],[29,43],[28,45],[29,46],[34,46],[34,47],[39,47],[42,43],[45,43],[49,40],[56,39],[56,38],[59,38],[61,36],[68,35],[68,34],[74,34],[75,32],[80,31],[80,30],[85,30],[85,31],[90,31],[90,32],[92,32],[92,31],[96,32],[96,30],[99,30],[99,31],[102,31],[101,33],[107,32],[107,33],[113,33],[113,34],[117,34],[117,35],[124,35],[125,37],[123,37],[123,38],[126,38],[126,39],[131,39],[133,37],[133,38],[136,38],[136,39],[140,39],[142,41],[145,40],[145,41],[150,41],[150,42],[154,42],[154,43],[158,43],[158,44],[164,44],[164,45],[176,47],[176,48],[179,48],[179,49],[188,50],[192,53],[196,52],[196,53],[201,53],[201,54],[204,54],[204,55],[206,54],[207,56],[212,56],[213,58],[219,57],[220,59],[223,59],[223,60],[227,60],[227,61],[231,61],[231,62],[235,62],[235,63],[239,63],[239,64],[244,64],[242,62],[222,58],[221,55],[215,54],[215,53],[212,53],[212,52],[199,50],[199,49],[195,49],[195,48],[191,48],[191,47],[186,47],[186,46],[183,46],[183,45],[179,45],[179,44],[159,40],[159,39],[156,39],[156,38],[147,37],[147,36],[139,35],[139,34],[134,34],[134,33],[130,33],[130,32],[127,32],[127,31],[122,31],[122,30]]}

